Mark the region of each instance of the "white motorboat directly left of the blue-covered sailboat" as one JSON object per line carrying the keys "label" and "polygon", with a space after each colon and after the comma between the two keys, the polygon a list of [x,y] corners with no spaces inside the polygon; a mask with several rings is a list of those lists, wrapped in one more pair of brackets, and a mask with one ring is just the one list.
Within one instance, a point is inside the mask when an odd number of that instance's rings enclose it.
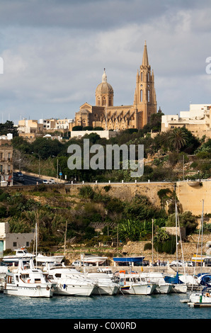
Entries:
{"label": "white motorboat directly left of the blue-covered sailboat", "polygon": [[172,285],[171,283],[167,283],[164,280],[164,274],[159,272],[149,272],[149,273],[140,273],[139,274],[142,281],[147,281],[151,283],[156,284],[156,289],[154,290],[154,293],[161,293],[161,294],[167,294],[171,293],[172,291]]}

